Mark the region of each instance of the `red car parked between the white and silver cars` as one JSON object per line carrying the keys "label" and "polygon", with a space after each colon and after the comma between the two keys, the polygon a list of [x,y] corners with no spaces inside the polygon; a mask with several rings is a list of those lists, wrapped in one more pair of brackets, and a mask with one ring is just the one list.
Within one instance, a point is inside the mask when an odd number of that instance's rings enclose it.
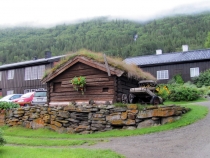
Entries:
{"label": "red car parked between the white and silver cars", "polygon": [[29,106],[31,105],[31,101],[33,100],[34,92],[29,92],[26,94],[23,94],[20,98],[12,100],[12,102],[15,102],[19,104],[20,106]]}

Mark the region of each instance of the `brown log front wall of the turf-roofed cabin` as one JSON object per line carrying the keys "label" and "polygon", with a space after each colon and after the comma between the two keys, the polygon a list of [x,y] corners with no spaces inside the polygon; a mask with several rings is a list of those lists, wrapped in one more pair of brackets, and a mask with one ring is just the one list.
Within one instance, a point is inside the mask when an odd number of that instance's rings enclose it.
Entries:
{"label": "brown log front wall of the turf-roofed cabin", "polygon": [[[86,77],[86,90],[84,95],[76,91],[70,80],[75,76]],[[115,76],[108,76],[106,72],[90,67],[83,63],[76,63],[59,76],[50,81],[50,102],[87,102],[113,101],[115,96]]]}

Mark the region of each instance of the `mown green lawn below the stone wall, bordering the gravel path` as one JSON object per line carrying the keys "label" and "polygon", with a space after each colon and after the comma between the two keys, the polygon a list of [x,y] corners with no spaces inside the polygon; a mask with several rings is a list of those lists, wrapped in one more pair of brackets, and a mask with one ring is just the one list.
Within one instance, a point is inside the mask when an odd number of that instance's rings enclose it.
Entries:
{"label": "mown green lawn below the stone wall, bordering the gravel path", "polygon": [[[167,103],[168,104],[168,103]],[[171,104],[171,103],[169,103]],[[174,103],[173,103],[174,104]],[[196,103],[194,103],[196,104]],[[192,124],[208,113],[208,108],[199,105],[185,104],[180,105],[191,108],[191,111],[182,115],[181,119],[149,128],[136,130],[112,130],[107,132],[98,132],[93,134],[58,134],[48,129],[26,129],[23,127],[2,127],[3,136],[8,142],[6,146],[0,147],[0,155],[3,158],[26,158],[28,157],[122,157],[111,150],[86,150],[86,149],[68,149],[74,145],[92,145],[98,142],[106,142],[109,137],[125,137],[132,135],[142,135],[154,132],[171,130]],[[14,146],[15,145],[15,146]],[[43,148],[41,148],[43,147]],[[52,149],[53,148],[53,149]],[[12,152],[11,152],[12,151]],[[18,155],[18,156],[17,156]],[[0,156],[0,157],[1,157]]]}

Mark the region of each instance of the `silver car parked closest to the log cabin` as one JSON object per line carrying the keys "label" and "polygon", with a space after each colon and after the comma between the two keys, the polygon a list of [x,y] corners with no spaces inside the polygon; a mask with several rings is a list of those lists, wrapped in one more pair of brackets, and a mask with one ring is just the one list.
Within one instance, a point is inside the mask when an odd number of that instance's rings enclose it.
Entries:
{"label": "silver car parked closest to the log cabin", "polygon": [[47,103],[47,91],[46,90],[36,90],[34,93],[32,105],[44,105]]}

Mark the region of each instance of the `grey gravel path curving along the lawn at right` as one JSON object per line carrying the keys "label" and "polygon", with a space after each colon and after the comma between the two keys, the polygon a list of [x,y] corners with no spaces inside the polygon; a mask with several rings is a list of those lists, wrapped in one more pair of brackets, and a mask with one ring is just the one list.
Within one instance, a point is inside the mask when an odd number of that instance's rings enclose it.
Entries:
{"label": "grey gravel path curving along the lawn at right", "polygon": [[[210,110],[210,101],[198,104]],[[127,158],[210,158],[210,114],[179,129],[111,138],[110,142],[87,148],[111,149]]]}

